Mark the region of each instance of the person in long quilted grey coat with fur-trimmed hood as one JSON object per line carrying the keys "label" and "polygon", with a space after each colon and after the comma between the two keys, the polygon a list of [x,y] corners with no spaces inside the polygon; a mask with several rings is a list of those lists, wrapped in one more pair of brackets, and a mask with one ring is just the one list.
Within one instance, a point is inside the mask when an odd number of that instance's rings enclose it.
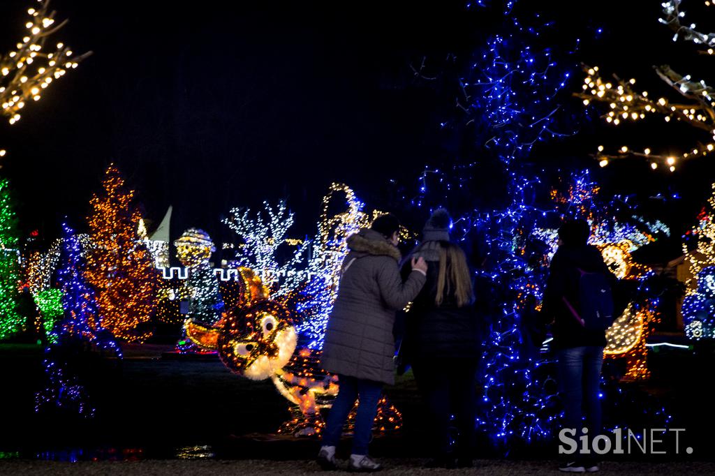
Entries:
{"label": "person in long quilted grey coat with fur-trimmed hood", "polygon": [[320,359],[324,370],[337,374],[340,385],[317,457],[324,470],[337,469],[335,447],[355,400],[359,403],[347,469],[372,472],[382,468],[368,456],[368,443],[383,386],[395,383],[395,314],[415,299],[427,274],[425,260],[415,258],[403,282],[399,241],[400,222],[392,214],[380,215],[370,228],[347,238],[350,252],[342,264]]}

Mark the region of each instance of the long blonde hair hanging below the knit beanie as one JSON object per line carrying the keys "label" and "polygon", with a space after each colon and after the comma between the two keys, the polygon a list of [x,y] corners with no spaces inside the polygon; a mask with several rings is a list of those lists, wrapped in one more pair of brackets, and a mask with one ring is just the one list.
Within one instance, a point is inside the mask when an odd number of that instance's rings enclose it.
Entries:
{"label": "long blonde hair hanging below the knit beanie", "polygon": [[473,301],[474,289],[467,257],[462,249],[450,242],[440,242],[440,269],[435,304],[439,306],[450,298],[454,299],[457,307],[464,307]]}

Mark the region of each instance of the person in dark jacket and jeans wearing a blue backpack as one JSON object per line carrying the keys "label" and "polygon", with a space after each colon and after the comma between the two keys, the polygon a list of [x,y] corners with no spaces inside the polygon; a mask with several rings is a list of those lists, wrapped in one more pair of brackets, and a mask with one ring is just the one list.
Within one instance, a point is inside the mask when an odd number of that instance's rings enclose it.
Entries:
{"label": "person in dark jacket and jeans wearing a blue backpack", "polygon": [[[588,245],[591,227],[582,219],[564,222],[558,250],[551,259],[542,314],[551,324],[558,356],[558,382],[564,405],[564,428],[587,430],[589,440],[601,434],[599,386],[606,329],[613,324],[612,289],[616,284],[598,248]],[[584,423],[583,417],[586,418]],[[567,455],[563,472],[596,472],[589,455]]]}

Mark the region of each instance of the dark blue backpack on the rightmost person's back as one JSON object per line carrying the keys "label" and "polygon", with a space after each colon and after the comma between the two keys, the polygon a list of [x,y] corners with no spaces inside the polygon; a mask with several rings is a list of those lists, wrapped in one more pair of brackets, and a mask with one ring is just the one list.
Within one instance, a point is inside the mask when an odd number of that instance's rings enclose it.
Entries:
{"label": "dark blue backpack on the rightmost person's back", "polygon": [[603,273],[587,273],[578,269],[578,311],[563,297],[563,302],[584,329],[605,331],[613,320],[613,291]]}

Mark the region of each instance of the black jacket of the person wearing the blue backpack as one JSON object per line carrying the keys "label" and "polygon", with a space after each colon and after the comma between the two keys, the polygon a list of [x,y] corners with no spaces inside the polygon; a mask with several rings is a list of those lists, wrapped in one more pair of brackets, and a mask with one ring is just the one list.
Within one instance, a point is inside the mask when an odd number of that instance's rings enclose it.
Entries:
{"label": "black jacket of the person wearing the blue backpack", "polygon": [[558,247],[551,259],[546,291],[543,294],[541,314],[544,324],[553,322],[553,347],[564,349],[586,345],[606,346],[606,332],[584,329],[571,314],[563,297],[578,309],[578,282],[584,272],[602,272],[616,284],[616,277],[603,262],[598,248],[584,245],[581,247]]}

